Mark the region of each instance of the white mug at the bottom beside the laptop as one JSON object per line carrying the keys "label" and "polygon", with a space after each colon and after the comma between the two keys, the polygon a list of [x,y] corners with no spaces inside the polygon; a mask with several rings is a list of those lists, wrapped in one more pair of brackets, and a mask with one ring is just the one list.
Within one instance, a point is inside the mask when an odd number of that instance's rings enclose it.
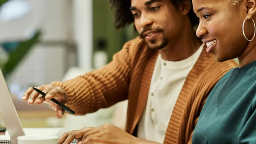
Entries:
{"label": "white mug at the bottom beside the laptop", "polygon": [[57,144],[58,136],[45,136],[45,135],[23,135],[17,138],[18,144]]}

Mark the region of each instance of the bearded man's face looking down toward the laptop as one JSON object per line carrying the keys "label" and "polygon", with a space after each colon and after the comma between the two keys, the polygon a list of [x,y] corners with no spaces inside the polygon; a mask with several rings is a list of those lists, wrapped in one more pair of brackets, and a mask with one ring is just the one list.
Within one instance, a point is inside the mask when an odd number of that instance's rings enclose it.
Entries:
{"label": "bearded man's face looking down toward the laptop", "polygon": [[131,0],[134,25],[151,49],[162,49],[179,35],[182,12],[171,0]]}

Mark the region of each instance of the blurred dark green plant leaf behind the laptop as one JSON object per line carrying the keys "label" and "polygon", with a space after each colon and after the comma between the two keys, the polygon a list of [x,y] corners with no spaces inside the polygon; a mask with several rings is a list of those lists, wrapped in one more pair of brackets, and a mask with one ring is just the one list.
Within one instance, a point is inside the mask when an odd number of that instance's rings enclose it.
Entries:
{"label": "blurred dark green plant leaf behind the laptop", "polygon": [[[0,0],[0,8],[1,5],[7,1],[8,0]],[[33,46],[39,42],[40,36],[41,30],[37,30],[32,38],[20,42],[14,50],[9,52],[7,61],[0,62],[0,67],[4,77],[7,77],[12,73],[13,69],[18,66]]]}

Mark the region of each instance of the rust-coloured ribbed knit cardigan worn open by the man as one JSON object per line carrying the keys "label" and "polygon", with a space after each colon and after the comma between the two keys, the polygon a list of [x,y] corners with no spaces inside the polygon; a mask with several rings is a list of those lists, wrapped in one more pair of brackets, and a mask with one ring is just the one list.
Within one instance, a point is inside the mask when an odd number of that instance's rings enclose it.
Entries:
{"label": "rust-coloured ribbed knit cardigan worn open by the man", "polygon": [[[149,85],[158,51],[148,48],[139,37],[124,44],[107,66],[65,82],[52,82],[68,93],[68,107],[76,115],[92,113],[128,99],[126,131],[133,133],[146,107]],[[165,144],[191,143],[200,111],[218,82],[234,60],[219,63],[203,49],[189,72],[168,125]]]}

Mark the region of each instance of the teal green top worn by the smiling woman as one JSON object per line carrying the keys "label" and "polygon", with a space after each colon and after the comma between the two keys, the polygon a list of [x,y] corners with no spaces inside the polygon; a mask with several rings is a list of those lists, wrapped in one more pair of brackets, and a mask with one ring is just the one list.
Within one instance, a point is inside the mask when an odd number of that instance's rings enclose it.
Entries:
{"label": "teal green top worn by the smiling woman", "polygon": [[256,144],[256,61],[230,70],[208,96],[192,144]]}

